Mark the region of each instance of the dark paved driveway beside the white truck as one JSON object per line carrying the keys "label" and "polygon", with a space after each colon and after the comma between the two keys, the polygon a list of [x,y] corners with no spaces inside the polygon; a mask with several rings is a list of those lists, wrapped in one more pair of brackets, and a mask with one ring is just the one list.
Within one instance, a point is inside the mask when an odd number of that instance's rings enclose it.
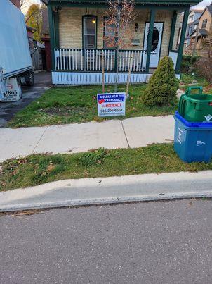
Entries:
{"label": "dark paved driveway beside the white truck", "polygon": [[0,102],[0,128],[4,128],[6,123],[15,116],[15,113],[24,109],[25,106],[34,101],[34,99],[40,97],[49,87],[51,87],[51,73],[45,71],[35,73],[34,86],[22,87],[22,99],[20,99],[20,101],[8,103]]}

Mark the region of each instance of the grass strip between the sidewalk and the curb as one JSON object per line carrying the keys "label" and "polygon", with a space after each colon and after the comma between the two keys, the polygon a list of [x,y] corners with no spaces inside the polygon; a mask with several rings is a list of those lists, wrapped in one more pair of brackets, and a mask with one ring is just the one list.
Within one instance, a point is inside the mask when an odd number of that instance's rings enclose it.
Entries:
{"label": "grass strip between the sidewalk and the curb", "polygon": [[137,149],[98,149],[80,154],[39,154],[1,164],[0,190],[39,185],[67,178],[95,178],[178,171],[211,170],[211,163],[183,163],[173,144]]}

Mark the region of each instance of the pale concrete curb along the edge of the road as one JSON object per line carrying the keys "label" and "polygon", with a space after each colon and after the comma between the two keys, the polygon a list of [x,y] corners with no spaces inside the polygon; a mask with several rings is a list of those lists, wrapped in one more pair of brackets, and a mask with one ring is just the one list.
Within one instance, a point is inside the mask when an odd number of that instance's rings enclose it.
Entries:
{"label": "pale concrete curb along the edge of the road", "polygon": [[0,211],[212,197],[212,171],[59,180],[0,192]]}

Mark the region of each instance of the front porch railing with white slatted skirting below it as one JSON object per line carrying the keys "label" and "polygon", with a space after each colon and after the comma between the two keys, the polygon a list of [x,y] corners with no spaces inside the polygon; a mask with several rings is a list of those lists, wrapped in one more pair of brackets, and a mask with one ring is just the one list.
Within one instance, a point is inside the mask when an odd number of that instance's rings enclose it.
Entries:
{"label": "front porch railing with white slatted skirting below it", "polygon": [[[170,53],[174,64],[177,55],[178,52]],[[102,68],[105,70],[105,82],[113,84],[117,64],[119,83],[126,82],[130,69],[132,83],[148,82],[154,68],[150,68],[149,73],[145,72],[146,59],[147,52],[143,50],[120,50],[116,56],[114,49],[55,49],[53,84],[101,84]]]}

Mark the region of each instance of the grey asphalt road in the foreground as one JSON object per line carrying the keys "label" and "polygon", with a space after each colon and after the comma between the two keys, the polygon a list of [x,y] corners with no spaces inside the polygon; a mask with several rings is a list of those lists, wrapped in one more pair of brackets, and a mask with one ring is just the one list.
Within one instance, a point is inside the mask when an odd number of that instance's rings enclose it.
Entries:
{"label": "grey asphalt road in the foreground", "polygon": [[211,283],[212,201],[0,217],[0,283]]}

